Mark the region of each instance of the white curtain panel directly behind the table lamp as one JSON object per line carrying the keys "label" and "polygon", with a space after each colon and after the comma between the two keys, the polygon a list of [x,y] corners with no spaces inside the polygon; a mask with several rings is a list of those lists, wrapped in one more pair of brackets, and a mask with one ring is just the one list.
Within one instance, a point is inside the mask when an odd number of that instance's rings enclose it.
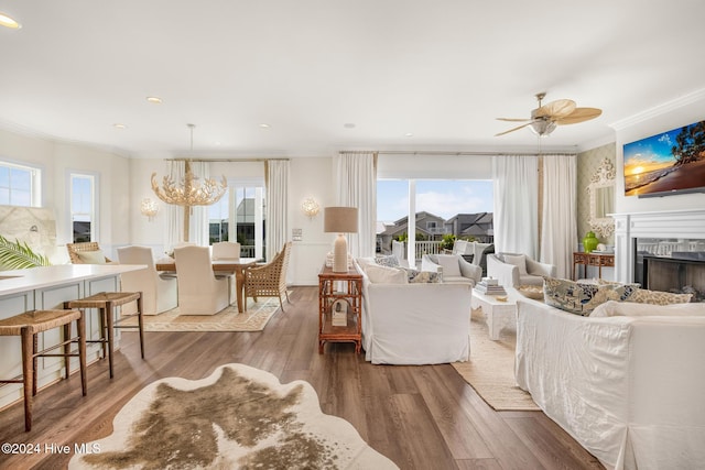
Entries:
{"label": "white curtain panel directly behind the table lamp", "polygon": [[377,237],[377,152],[340,152],[337,159],[337,204],[357,207],[357,233],[348,236],[352,256],[373,256]]}

